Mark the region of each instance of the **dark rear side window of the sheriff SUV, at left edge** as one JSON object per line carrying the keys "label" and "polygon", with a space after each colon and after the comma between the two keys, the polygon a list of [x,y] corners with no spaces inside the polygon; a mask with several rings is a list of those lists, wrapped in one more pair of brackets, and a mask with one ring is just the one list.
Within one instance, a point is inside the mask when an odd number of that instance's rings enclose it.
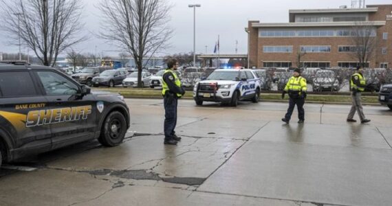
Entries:
{"label": "dark rear side window of the sheriff SUV, at left edge", "polygon": [[27,71],[0,72],[0,90],[3,97],[38,95]]}

